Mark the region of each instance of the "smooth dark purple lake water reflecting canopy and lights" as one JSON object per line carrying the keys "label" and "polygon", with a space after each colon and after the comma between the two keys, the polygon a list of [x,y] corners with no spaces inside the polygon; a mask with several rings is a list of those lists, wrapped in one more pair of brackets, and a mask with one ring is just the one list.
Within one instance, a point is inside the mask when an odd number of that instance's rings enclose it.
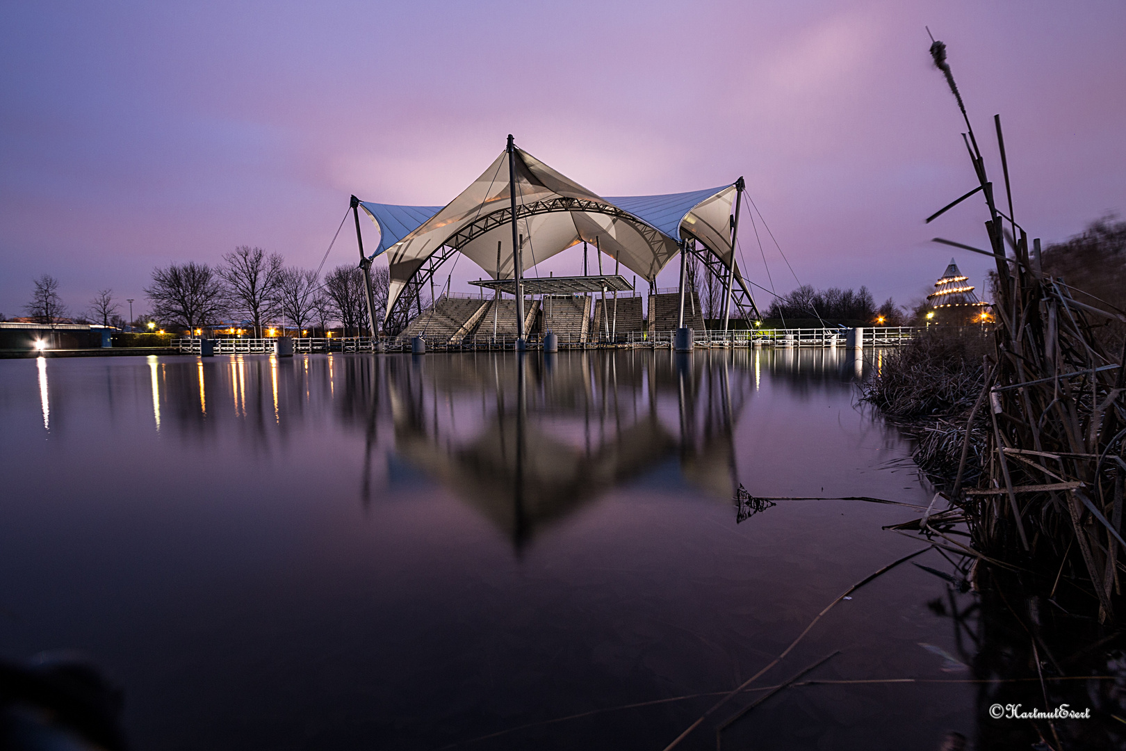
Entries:
{"label": "smooth dark purple lake water reflecting canopy and lights", "polygon": [[[86,655],[137,749],[659,751],[923,547],[882,529],[910,508],[733,501],[930,502],[856,374],[842,349],[2,360],[0,658]],[[838,650],[807,678],[945,682],[789,688],[723,746],[973,739],[947,613],[973,597],[876,579],[752,688]]]}

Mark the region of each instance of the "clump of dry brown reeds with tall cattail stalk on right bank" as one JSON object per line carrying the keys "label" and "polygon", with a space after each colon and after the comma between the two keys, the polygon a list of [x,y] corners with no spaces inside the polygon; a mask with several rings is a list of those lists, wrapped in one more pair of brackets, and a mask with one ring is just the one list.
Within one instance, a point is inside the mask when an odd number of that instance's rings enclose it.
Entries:
{"label": "clump of dry brown reeds with tall cattail stalk on right bank", "polygon": [[[936,42],[931,54],[965,115],[946,46]],[[1011,195],[1000,116],[994,122],[1006,194]],[[974,547],[986,555],[1043,567],[1049,581],[1071,556],[1085,571],[1100,622],[1112,619],[1110,596],[1120,594],[1118,571],[1126,571],[1126,374],[1123,356],[1116,359],[1101,347],[1092,318],[1126,323],[1126,316],[1076,301],[1067,285],[1040,271],[1039,253],[1029,257],[1028,235],[1012,218],[1011,205],[1009,215],[995,205],[968,116],[966,127],[965,143],[990,214],[985,230],[997,265],[998,324],[989,383],[981,379],[975,408],[958,426],[962,461],[951,500],[965,511]],[[1038,251],[1039,240],[1034,247]],[[978,441],[989,462],[977,486],[964,489],[973,420],[986,392],[990,424]],[[994,495],[1007,502],[990,501]]]}

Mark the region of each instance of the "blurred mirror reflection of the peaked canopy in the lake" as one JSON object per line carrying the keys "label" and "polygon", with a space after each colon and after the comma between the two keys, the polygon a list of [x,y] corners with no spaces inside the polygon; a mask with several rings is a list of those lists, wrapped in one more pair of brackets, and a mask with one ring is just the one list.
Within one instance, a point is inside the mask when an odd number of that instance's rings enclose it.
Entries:
{"label": "blurred mirror reflection of the peaked canopy in the lake", "polygon": [[[726,357],[682,366],[634,352],[574,355],[552,366],[502,355],[485,361],[392,368],[395,446],[517,544],[623,480],[678,458],[686,481],[731,499],[745,367],[732,384]],[[466,405],[481,399],[480,412],[448,411],[456,394],[474,394]]]}

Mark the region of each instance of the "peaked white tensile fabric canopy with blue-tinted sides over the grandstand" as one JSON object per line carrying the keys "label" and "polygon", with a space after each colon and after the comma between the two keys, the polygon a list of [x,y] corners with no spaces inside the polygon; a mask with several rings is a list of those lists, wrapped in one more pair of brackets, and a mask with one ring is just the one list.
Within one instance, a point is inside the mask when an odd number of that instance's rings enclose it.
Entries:
{"label": "peaked white tensile fabric canopy with blue-tinted sides over the grandstand", "polygon": [[[730,267],[734,184],[692,193],[602,198],[521,149],[515,149],[515,157],[521,272],[583,241],[597,243],[646,281],[653,281],[677,256],[682,240],[698,240]],[[494,279],[513,276],[508,167],[503,151],[444,207],[360,202],[379,230],[372,258],[387,253],[388,313],[406,283],[444,249],[456,249]]]}

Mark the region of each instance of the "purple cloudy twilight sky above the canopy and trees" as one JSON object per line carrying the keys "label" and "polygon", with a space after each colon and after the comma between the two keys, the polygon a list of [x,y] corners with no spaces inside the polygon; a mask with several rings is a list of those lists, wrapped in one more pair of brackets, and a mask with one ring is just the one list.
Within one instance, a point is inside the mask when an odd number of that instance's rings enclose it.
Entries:
{"label": "purple cloudy twilight sky above the canopy and trees", "polygon": [[[350,194],[445,204],[508,133],[602,195],[743,175],[803,283],[906,303],[951,256],[930,238],[986,242],[976,199],[922,223],[974,185],[924,25],[998,184],[1001,114],[1034,235],[1126,208],[1111,0],[3,3],[0,313],[21,314],[45,272],[72,310],[111,287],[140,313],[153,266],[240,244],[315,268]],[[749,226],[740,244],[769,286]],[[990,261],[954,254],[980,284]],[[325,268],[356,257],[341,233]],[[463,259],[454,288],[479,276]]]}

